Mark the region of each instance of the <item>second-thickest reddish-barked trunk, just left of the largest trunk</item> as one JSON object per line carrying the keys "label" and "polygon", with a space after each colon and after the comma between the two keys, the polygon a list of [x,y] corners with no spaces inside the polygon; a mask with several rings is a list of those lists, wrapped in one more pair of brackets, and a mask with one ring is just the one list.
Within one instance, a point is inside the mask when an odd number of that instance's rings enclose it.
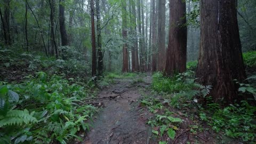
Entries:
{"label": "second-thickest reddish-barked trunk, just left of the largest trunk", "polygon": [[186,2],[170,0],[169,43],[165,75],[183,73],[187,62]]}

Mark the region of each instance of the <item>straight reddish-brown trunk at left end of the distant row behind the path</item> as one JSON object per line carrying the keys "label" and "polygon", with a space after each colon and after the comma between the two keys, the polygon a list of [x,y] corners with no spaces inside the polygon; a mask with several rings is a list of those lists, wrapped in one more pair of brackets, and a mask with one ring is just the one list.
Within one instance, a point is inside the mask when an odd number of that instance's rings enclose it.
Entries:
{"label": "straight reddish-brown trunk at left end of the distant row behind the path", "polygon": [[123,73],[129,72],[129,63],[128,63],[128,50],[127,50],[127,18],[126,18],[126,2],[122,1],[122,35],[123,35]]}

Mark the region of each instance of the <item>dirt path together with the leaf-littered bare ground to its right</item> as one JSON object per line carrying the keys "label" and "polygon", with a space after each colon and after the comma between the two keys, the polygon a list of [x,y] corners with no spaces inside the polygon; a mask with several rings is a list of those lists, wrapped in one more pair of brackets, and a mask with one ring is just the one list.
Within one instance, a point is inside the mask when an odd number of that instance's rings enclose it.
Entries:
{"label": "dirt path together with the leaf-littered bare ground to its right", "polygon": [[[181,118],[183,123],[179,125],[175,139],[171,140],[166,135],[159,139],[152,132],[159,130],[161,127],[152,128],[147,124],[149,119],[156,114],[150,113],[147,107],[141,104],[144,96],[150,93],[147,87],[151,84],[151,76],[143,77],[143,82],[135,81],[134,83],[134,79],[115,79],[115,84],[105,87],[98,94],[98,98],[92,101],[95,105],[102,106],[103,109],[90,122],[92,129],[87,133],[82,143],[154,144],[158,141],[167,141],[166,143],[221,143],[219,141],[226,139],[226,137],[219,137],[215,132],[208,130],[209,126],[207,124],[197,126],[199,122],[191,120],[190,115],[182,114],[171,107],[169,109],[174,116]],[[201,129],[201,127],[202,130],[199,131],[198,129]],[[195,130],[194,133],[190,132],[192,130]],[[197,130],[198,132],[196,132]],[[227,139],[225,143],[238,142]]]}

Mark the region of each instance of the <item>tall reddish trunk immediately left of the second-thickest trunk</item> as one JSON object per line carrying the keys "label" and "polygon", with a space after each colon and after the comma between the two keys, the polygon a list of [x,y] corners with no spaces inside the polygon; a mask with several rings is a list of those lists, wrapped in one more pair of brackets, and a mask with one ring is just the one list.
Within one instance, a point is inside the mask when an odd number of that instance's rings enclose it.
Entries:
{"label": "tall reddish trunk immediately left of the second-thickest trunk", "polygon": [[165,69],[165,0],[158,1],[158,71]]}

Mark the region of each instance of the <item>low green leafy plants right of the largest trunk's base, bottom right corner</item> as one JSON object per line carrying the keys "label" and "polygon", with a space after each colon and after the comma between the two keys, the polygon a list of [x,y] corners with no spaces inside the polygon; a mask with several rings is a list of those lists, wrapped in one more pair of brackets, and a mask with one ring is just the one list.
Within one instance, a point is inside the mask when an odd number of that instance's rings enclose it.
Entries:
{"label": "low green leafy plants right of the largest trunk's base, bottom right corner", "polygon": [[[223,131],[228,137],[253,141],[256,137],[255,112],[256,107],[242,101],[241,105],[236,104],[224,109],[215,109],[211,120],[208,122],[216,132]],[[204,120],[206,121],[206,118]]]}

